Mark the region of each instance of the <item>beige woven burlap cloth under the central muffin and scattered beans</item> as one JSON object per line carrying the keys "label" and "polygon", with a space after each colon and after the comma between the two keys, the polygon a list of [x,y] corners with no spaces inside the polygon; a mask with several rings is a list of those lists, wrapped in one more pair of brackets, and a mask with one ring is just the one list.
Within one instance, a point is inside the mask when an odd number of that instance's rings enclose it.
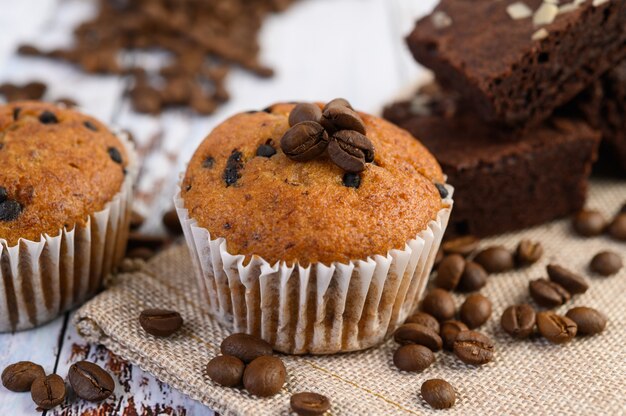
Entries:
{"label": "beige woven burlap cloth under the central muffin and scattered beans", "polygon": [[[612,216],[626,200],[626,182],[596,180],[588,206]],[[541,209],[537,207],[536,209]],[[606,237],[573,236],[566,220],[484,241],[514,248],[520,238],[541,241],[544,258],[531,268],[490,277],[482,290],[493,315],[481,330],[496,341],[495,360],[482,367],[461,363],[451,353],[421,374],[398,371],[393,340],[358,353],[335,356],[284,356],[289,373],[282,392],[258,399],[244,390],[220,387],[205,375],[206,363],[219,353],[229,332],[206,314],[192,266],[183,246],[174,247],[141,270],[114,278],[108,290],[76,314],[79,332],[113,353],[222,415],[289,414],[294,392],[316,391],[332,400],[334,415],[411,415],[436,413],[422,400],[422,382],[443,378],[456,389],[449,415],[623,415],[626,414],[626,270],[601,278],[587,271],[590,258],[611,249],[626,259],[626,244]],[[605,332],[552,345],[541,338],[515,341],[499,327],[512,303],[528,301],[528,281],[545,276],[558,262],[588,276],[591,288],[560,308],[595,307],[608,316]],[[463,297],[456,298],[458,305]],[[139,326],[142,309],[165,307],[181,312],[183,330],[169,339],[146,335]]]}

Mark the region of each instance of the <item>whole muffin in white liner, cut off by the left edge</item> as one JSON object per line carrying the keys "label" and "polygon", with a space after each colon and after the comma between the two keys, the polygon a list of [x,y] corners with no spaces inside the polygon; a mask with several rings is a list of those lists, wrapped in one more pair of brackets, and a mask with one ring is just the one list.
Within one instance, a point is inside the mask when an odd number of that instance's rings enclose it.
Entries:
{"label": "whole muffin in white liner, cut off by the left edge", "polygon": [[127,142],[40,102],[0,106],[0,330],[35,326],[98,289],[124,252]]}

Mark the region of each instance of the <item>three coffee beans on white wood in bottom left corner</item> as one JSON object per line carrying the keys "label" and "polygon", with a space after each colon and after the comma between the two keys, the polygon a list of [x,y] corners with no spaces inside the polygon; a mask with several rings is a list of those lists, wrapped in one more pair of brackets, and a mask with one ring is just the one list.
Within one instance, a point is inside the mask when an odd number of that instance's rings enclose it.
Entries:
{"label": "three coffee beans on white wood in bottom left corner", "polygon": [[[101,402],[115,390],[115,381],[111,375],[89,361],[72,364],[67,379],[76,396],[90,402]],[[61,376],[46,375],[42,366],[30,361],[20,361],[6,367],[2,372],[2,385],[14,392],[30,392],[33,402],[41,410],[52,409],[68,397]]]}

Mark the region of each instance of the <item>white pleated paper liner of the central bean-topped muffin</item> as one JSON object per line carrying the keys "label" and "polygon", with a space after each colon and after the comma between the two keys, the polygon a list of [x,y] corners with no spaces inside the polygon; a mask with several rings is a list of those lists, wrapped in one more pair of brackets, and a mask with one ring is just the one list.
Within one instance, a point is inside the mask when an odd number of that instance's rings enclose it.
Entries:
{"label": "white pleated paper liner of the central bean-topped muffin", "polygon": [[245,264],[189,217],[180,188],[174,204],[214,317],[280,352],[331,354],[381,343],[417,308],[452,209],[446,187],[446,207],[404,249],[330,266]]}

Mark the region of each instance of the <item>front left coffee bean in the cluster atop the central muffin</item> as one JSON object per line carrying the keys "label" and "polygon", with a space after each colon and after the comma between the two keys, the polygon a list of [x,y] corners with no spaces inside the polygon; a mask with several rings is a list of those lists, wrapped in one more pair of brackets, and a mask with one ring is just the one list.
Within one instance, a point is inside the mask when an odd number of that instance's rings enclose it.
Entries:
{"label": "front left coffee bean in the cluster atop the central muffin", "polygon": [[328,133],[319,123],[303,121],[287,130],[280,140],[280,147],[289,159],[297,162],[313,160],[328,147]]}

